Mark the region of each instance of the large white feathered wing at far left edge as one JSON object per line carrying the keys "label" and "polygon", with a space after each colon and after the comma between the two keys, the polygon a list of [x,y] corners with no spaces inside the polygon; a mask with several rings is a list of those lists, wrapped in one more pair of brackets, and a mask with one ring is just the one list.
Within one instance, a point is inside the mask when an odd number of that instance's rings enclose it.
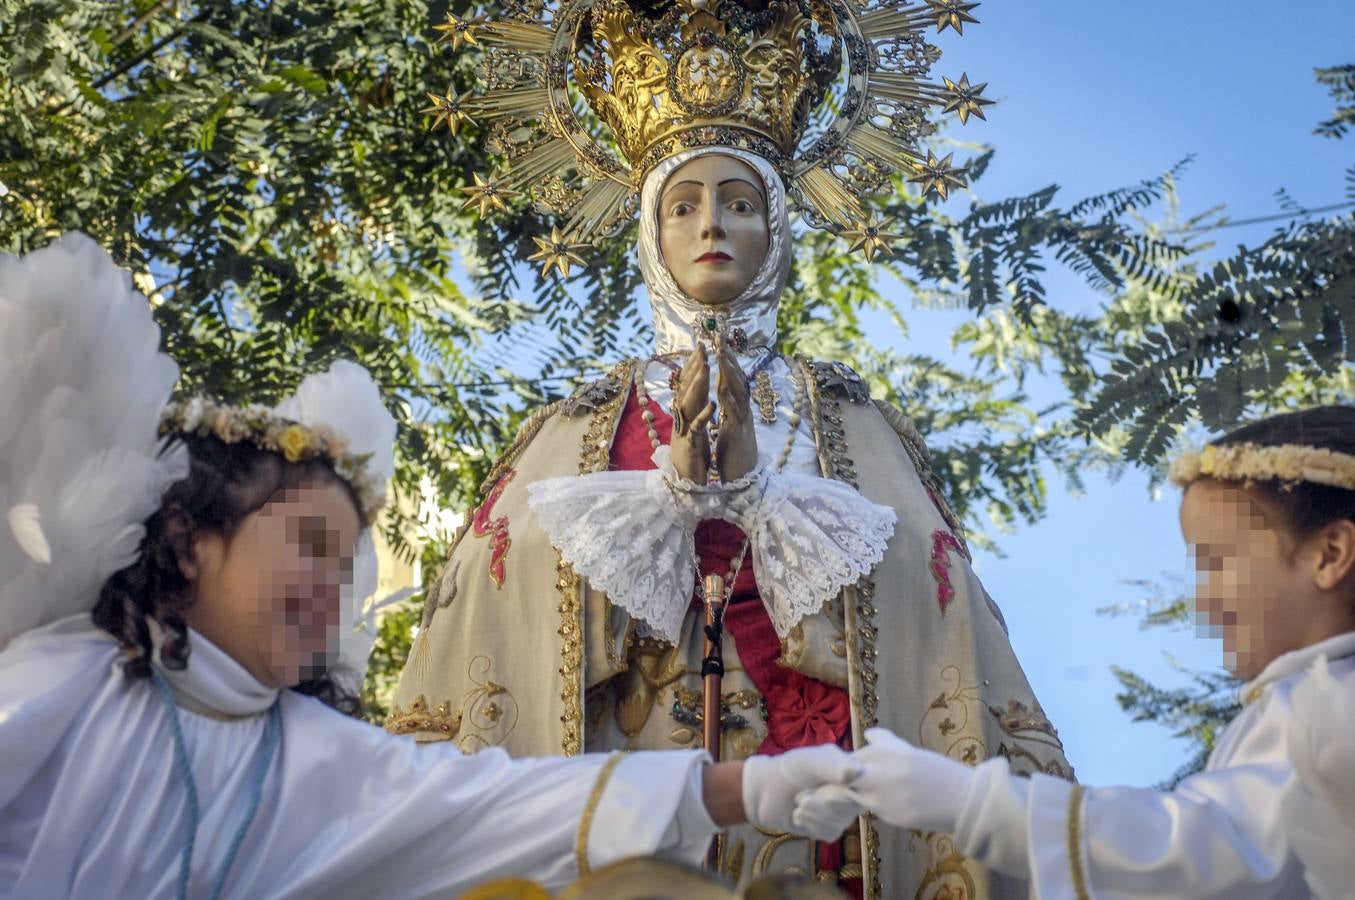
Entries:
{"label": "large white feathered wing at far left edge", "polygon": [[84,234],[0,255],[0,649],[93,607],[188,472],[157,438],[179,367],[131,278]]}

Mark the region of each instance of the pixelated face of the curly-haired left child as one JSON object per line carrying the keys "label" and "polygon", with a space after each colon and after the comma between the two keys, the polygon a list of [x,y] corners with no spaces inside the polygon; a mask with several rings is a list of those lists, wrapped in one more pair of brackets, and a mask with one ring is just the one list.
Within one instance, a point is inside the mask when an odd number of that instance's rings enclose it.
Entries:
{"label": "pixelated face of the curly-haired left child", "polygon": [[198,535],[188,625],[264,684],[316,678],[337,656],[359,531],[348,492],[327,481],[280,491],[229,538]]}

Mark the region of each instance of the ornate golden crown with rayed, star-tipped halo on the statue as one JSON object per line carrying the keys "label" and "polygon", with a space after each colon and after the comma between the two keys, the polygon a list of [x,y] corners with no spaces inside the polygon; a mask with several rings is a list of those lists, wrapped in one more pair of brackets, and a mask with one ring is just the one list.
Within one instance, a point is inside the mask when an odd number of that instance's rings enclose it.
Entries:
{"label": "ornate golden crown with rayed, star-tipped halo on the statue", "polygon": [[453,50],[484,50],[473,96],[430,94],[434,127],[489,129],[501,163],[462,188],[481,216],[530,194],[562,220],[535,239],[569,274],[580,243],[619,230],[645,175],[691,146],[766,157],[810,225],[867,258],[892,237],[866,199],[904,173],[944,198],[951,157],[920,149],[934,106],[984,118],[984,84],[927,81],[924,33],[976,22],[961,0],[518,0],[447,16]]}

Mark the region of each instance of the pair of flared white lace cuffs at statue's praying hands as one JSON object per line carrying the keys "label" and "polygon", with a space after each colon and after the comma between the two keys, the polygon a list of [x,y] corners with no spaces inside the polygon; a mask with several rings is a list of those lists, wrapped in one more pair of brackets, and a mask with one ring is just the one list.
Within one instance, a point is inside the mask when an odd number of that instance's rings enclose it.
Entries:
{"label": "pair of flared white lace cuffs at statue's praying hands", "polygon": [[668,447],[649,472],[593,472],[527,487],[551,545],[611,602],[676,642],[695,586],[694,533],[730,522],[752,544],[759,592],[779,637],[885,556],[896,515],[850,485],[759,465],[736,481],[678,474]]}

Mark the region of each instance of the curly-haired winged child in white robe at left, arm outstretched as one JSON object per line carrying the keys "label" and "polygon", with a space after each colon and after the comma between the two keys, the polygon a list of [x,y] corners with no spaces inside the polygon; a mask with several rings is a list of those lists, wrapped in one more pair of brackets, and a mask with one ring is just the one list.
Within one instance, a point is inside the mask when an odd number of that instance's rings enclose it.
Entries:
{"label": "curly-haired winged child in white robe at left, arm outstretched", "polygon": [[0,897],[554,888],[789,830],[797,792],[859,770],[462,756],[332,709],[394,423],[352,363],[274,409],[163,413],[178,370],[129,281],[80,236],[0,255]]}

